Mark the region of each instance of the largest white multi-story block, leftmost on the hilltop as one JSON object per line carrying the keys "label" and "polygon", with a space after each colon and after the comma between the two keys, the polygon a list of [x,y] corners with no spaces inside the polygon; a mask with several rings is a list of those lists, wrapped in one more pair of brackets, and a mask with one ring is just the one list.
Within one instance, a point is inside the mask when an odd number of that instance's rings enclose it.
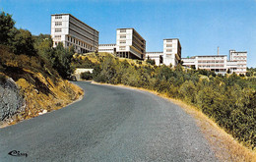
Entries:
{"label": "largest white multi-story block, leftmost on the hilltop", "polygon": [[71,14],[51,15],[53,47],[62,42],[64,47],[74,46],[77,53],[93,52],[98,47],[98,31]]}

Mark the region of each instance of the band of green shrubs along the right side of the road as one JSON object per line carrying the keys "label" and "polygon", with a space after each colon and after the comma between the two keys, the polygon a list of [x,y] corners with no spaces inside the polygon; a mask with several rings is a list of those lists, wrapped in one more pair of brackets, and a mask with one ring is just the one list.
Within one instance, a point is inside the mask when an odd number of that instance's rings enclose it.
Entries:
{"label": "band of green shrubs along the right side of the road", "polygon": [[216,75],[206,70],[184,70],[167,66],[139,65],[111,55],[80,60],[94,68],[98,82],[143,87],[181,99],[196,106],[239,141],[252,148],[256,144],[256,78],[235,74]]}

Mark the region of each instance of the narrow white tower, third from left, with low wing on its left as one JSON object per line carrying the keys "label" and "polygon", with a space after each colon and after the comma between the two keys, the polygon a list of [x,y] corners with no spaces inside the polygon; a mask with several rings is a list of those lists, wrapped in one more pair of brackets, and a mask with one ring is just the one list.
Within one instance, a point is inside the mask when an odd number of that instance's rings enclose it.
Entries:
{"label": "narrow white tower, third from left, with low wing on its left", "polygon": [[146,59],[155,60],[156,65],[170,64],[175,67],[181,61],[181,45],[179,39],[163,39],[163,52],[147,52]]}

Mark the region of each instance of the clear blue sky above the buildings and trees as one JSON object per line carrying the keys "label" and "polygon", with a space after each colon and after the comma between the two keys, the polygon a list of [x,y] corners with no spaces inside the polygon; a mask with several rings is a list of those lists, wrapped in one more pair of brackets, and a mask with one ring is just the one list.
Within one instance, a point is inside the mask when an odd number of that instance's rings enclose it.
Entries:
{"label": "clear blue sky above the buildings and trees", "polygon": [[16,27],[50,33],[50,15],[70,13],[99,31],[99,43],[115,43],[116,28],[134,27],[147,51],[179,38],[182,57],[248,52],[256,68],[256,0],[0,0]]}

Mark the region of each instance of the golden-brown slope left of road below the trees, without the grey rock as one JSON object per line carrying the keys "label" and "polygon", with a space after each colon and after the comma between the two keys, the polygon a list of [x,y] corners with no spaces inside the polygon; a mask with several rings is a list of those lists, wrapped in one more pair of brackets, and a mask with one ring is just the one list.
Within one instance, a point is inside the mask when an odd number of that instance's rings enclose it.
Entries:
{"label": "golden-brown slope left of road below the trees, without the grey rock", "polygon": [[1,82],[8,78],[15,81],[26,102],[22,112],[2,119],[10,124],[33,118],[45,110],[60,109],[83,94],[80,87],[62,80],[39,56],[15,55],[9,47],[0,45],[0,58]]}

